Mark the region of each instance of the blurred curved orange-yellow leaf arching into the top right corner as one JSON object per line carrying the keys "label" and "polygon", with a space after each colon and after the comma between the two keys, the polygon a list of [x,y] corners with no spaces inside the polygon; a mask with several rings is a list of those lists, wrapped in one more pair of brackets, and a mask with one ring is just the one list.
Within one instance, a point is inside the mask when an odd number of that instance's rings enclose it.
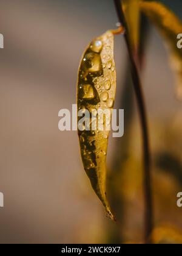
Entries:
{"label": "blurred curved orange-yellow leaf arching into the top right corner", "polygon": [[140,7],[158,28],[170,48],[171,66],[177,77],[178,96],[182,98],[182,51],[177,48],[177,35],[182,33],[182,23],[171,10],[159,2],[140,2]]}

